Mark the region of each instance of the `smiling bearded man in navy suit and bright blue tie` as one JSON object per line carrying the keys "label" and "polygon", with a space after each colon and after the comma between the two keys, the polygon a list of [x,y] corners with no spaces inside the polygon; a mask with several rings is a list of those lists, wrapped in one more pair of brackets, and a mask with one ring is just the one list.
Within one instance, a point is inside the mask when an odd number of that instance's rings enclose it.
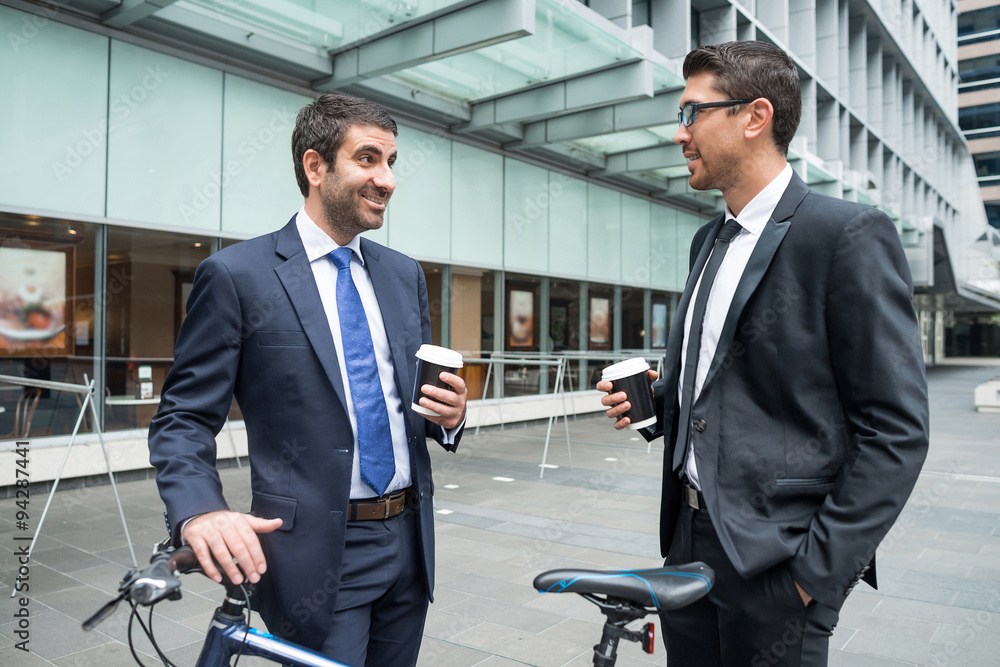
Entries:
{"label": "smiling bearded man in navy suit and bright blue tie", "polygon": [[[149,433],[177,542],[220,580],[257,584],[268,628],[349,665],[416,662],[434,586],[426,439],[454,450],[466,387],[425,385],[430,342],[414,260],[358,236],[395,188],[396,123],[367,100],[303,108],[292,152],[303,208],[279,231],[198,267],[174,366]],[[235,396],[253,501],[232,512],[215,436]]]}

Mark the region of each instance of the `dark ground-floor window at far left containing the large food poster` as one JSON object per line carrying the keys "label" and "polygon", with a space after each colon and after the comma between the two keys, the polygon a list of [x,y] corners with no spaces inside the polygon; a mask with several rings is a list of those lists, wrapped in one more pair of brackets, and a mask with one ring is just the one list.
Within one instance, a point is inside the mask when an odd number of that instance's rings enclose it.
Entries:
{"label": "dark ground-floor window at far left containing the large food poster", "polygon": [[[97,233],[96,225],[0,213],[0,374],[76,385],[95,377],[94,318],[115,298],[110,279],[107,295],[94,298]],[[0,441],[72,433],[81,399],[0,383]],[[89,413],[80,430],[93,430]]]}

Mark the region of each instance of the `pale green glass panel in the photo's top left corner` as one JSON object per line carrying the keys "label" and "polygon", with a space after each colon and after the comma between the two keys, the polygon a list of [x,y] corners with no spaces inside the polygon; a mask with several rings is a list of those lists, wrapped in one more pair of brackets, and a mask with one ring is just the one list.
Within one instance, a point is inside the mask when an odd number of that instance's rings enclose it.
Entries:
{"label": "pale green glass panel in the photo's top left corner", "polygon": [[108,39],[38,20],[0,7],[0,201],[103,216]]}

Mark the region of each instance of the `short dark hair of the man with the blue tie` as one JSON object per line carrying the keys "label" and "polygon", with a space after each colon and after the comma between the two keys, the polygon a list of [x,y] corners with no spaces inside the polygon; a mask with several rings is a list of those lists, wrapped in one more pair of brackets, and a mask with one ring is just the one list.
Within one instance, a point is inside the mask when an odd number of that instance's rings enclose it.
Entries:
{"label": "short dark hair of the man with the blue tie", "polygon": [[377,127],[392,132],[393,136],[399,134],[396,121],[384,107],[361,97],[325,93],[299,111],[292,132],[292,159],[295,180],[303,197],[309,196],[309,181],[302,167],[302,156],[311,148],[332,169],[347,129],[355,125]]}

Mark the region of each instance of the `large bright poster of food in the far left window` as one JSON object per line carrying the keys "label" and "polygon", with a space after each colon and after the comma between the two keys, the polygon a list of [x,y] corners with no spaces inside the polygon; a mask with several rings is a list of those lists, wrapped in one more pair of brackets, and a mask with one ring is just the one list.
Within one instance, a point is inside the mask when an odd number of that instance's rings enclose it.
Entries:
{"label": "large bright poster of food in the far left window", "polygon": [[70,251],[0,248],[0,356],[72,354]]}

